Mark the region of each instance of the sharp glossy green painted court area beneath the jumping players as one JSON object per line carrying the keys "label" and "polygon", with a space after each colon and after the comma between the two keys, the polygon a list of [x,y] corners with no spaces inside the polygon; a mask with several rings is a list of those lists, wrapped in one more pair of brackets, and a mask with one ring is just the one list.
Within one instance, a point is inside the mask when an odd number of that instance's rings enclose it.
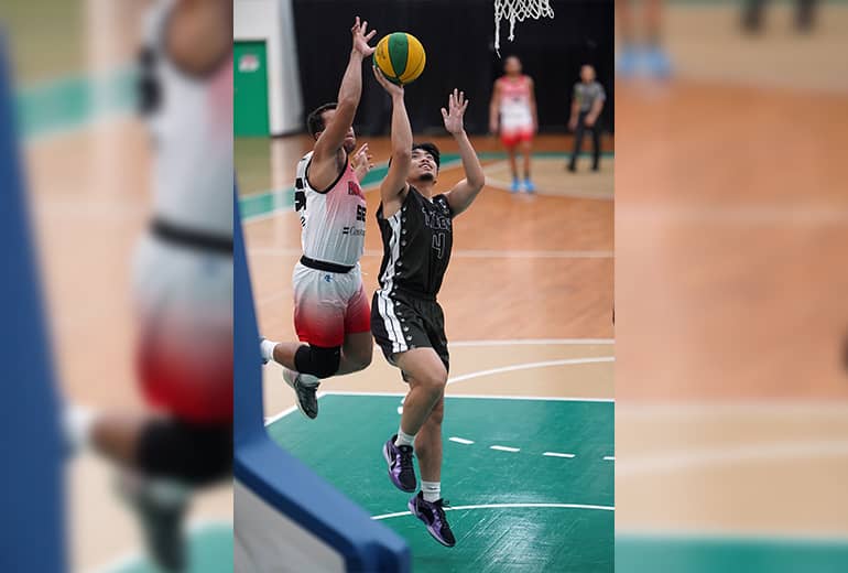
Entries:
{"label": "sharp glossy green painted court area beneath the jumping players", "polygon": [[[327,394],[319,406],[317,420],[294,411],[273,422],[272,439],[372,516],[405,511],[410,495],[380,453],[401,396]],[[453,549],[409,513],[383,519],[409,542],[413,571],[613,571],[611,402],[448,397],[444,437],[443,495],[454,507],[489,507],[448,511]]]}

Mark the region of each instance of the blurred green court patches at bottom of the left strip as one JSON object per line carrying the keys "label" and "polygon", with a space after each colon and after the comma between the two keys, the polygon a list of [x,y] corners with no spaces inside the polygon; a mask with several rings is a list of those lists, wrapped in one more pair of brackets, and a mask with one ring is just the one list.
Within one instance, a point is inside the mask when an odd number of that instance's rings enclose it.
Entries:
{"label": "blurred green court patches at bottom of the left strip", "polygon": [[[232,525],[208,523],[192,530],[189,540],[191,567],[186,573],[232,572]],[[109,573],[161,573],[146,558],[127,560],[108,570]]]}

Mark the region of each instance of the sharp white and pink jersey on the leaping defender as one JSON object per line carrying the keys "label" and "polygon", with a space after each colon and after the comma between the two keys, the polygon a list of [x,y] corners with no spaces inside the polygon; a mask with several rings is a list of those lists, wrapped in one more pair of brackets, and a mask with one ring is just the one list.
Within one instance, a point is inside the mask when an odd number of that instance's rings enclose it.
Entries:
{"label": "sharp white and pink jersey on the leaping defender", "polygon": [[294,208],[301,216],[303,253],[316,261],[354,267],[366,241],[366,196],[350,163],[326,190],[306,179],[311,151],[297,163]]}

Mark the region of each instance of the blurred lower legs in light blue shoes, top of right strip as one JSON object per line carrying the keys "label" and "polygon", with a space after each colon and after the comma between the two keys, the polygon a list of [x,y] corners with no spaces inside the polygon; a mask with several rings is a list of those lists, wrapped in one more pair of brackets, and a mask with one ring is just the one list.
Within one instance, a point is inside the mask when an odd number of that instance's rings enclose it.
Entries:
{"label": "blurred lower legs in light blue shoes, top of right strip", "polygon": [[[621,50],[616,55],[616,71],[622,77],[645,72],[650,77],[664,79],[672,74],[672,63],[662,46],[663,0],[644,0],[644,33],[642,43],[635,37],[631,0],[616,2],[621,29]],[[642,69],[644,68],[644,69]]]}

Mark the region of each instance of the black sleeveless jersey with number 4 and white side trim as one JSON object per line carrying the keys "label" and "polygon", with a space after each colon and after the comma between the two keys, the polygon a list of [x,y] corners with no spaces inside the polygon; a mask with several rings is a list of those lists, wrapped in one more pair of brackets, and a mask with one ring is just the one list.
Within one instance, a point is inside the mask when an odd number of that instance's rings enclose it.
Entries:
{"label": "black sleeveless jersey with number 4 and white side trim", "polygon": [[388,219],[380,204],[377,223],[383,239],[381,290],[436,298],[450,260],[453,216],[445,195],[430,201],[412,185],[400,210]]}

